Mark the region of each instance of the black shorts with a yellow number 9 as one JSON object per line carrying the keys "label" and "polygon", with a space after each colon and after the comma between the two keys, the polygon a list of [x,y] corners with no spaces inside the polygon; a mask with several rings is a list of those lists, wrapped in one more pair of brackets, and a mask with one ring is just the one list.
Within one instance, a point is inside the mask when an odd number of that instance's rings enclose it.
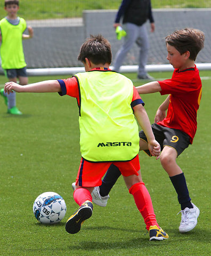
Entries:
{"label": "black shorts with a yellow number 9", "polygon": [[[155,135],[155,139],[160,144],[160,150],[162,151],[165,146],[176,149],[177,156],[179,156],[185,148],[188,148],[190,144],[190,137],[188,134],[177,130],[161,126],[158,124],[152,124],[152,132]],[[145,136],[143,130],[139,132],[140,139],[147,142],[147,137]],[[144,150],[149,156],[150,151]]]}

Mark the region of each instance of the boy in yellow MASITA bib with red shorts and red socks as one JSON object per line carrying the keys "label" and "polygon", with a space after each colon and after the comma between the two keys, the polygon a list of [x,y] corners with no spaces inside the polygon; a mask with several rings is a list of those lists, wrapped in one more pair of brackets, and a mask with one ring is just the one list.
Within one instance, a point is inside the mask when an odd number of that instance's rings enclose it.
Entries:
{"label": "boy in yellow MASITA bib with red shorts and red socks", "polygon": [[75,234],[92,215],[92,190],[101,185],[111,164],[118,166],[129,193],[141,212],[151,240],[168,235],[157,223],[150,195],[145,187],[139,163],[139,131],[135,117],[147,139],[149,150],[159,158],[160,145],[152,133],[144,103],[127,77],[109,69],[111,47],[101,35],[91,36],[82,45],[78,60],[85,73],[68,79],[44,81],[20,86],[9,82],[5,92],[59,92],[75,97],[79,107],[80,162],[74,191],[80,206],[66,223],[66,231]]}

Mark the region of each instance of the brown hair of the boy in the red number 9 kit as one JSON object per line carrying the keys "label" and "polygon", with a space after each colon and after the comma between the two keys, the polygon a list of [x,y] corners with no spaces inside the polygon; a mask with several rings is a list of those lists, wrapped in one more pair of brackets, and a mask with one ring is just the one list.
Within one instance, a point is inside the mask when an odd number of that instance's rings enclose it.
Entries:
{"label": "brown hair of the boy in the red number 9 kit", "polygon": [[204,41],[205,34],[194,28],[177,30],[166,37],[166,44],[174,46],[181,55],[189,51],[191,60],[196,60],[197,54],[204,47]]}

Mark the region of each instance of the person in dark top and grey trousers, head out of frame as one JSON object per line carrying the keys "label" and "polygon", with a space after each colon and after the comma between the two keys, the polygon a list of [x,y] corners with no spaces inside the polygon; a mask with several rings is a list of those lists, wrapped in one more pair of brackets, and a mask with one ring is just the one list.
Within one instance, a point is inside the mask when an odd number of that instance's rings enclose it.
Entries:
{"label": "person in dark top and grey trousers, head out of frame", "polygon": [[120,19],[123,18],[123,29],[127,35],[124,38],[123,46],[119,49],[115,56],[113,70],[119,71],[121,63],[126,54],[131,50],[134,43],[140,47],[139,52],[139,70],[137,78],[153,79],[145,70],[147,65],[149,38],[147,32],[146,21],[151,24],[151,32],[155,30],[155,23],[152,16],[150,0],[123,0],[116,14],[116,19],[113,27],[121,26]]}

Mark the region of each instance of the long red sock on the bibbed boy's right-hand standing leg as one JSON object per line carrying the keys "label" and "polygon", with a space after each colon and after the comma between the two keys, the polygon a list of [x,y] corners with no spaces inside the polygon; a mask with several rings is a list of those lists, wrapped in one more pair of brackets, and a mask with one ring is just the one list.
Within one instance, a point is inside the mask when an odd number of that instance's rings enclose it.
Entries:
{"label": "long red sock on the bibbed boy's right-hand standing leg", "polygon": [[129,193],[133,195],[137,209],[141,212],[144,222],[147,225],[147,230],[150,226],[158,226],[156,216],[153,210],[152,201],[147,188],[143,182],[135,183]]}

